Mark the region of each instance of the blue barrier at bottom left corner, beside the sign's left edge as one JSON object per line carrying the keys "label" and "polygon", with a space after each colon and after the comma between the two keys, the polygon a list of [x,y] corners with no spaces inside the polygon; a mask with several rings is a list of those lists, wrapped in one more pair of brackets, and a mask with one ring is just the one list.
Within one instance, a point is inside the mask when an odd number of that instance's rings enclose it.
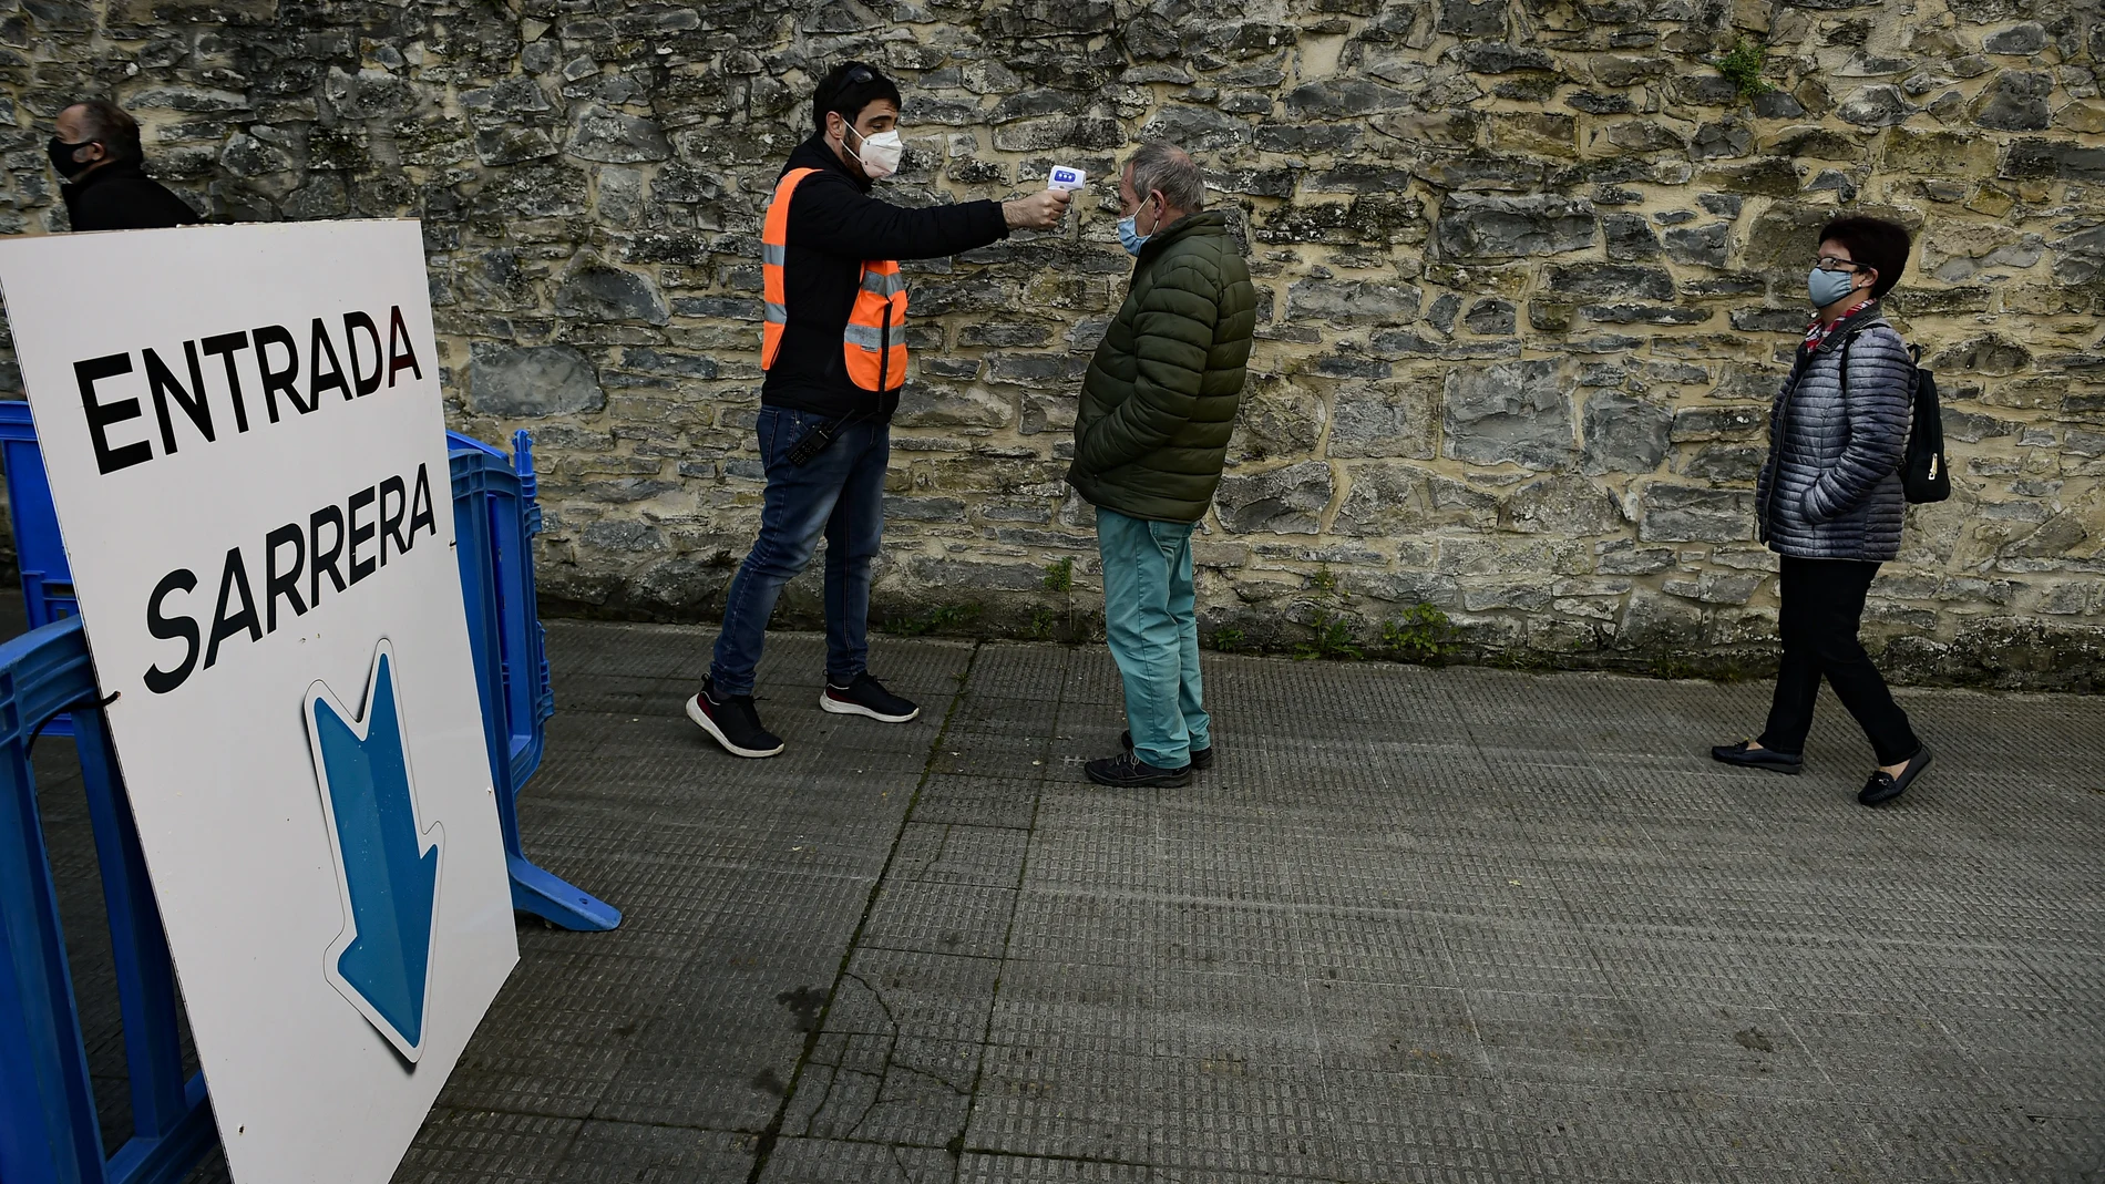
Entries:
{"label": "blue barrier at bottom left corner, beside the sign's left edge", "polygon": [[[8,1184],[173,1184],[219,1140],[204,1075],[183,1079],[168,940],[95,698],[78,616],[0,646],[0,1180]],[[133,1136],[107,1159],[29,768],[29,742],[67,707],[131,1070]]]}

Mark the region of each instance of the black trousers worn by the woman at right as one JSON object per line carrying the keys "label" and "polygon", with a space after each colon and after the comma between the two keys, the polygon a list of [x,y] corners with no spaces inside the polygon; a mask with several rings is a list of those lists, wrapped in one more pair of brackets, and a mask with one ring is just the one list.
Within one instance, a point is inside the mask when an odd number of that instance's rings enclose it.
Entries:
{"label": "black trousers worn by the woman at right", "polygon": [[1777,671],[1777,698],[1768,707],[1768,730],[1762,732],[1764,749],[1806,751],[1821,675],[1827,675],[1836,698],[1857,717],[1878,763],[1897,765],[1922,749],[1916,730],[1907,726],[1907,713],[1892,702],[1886,679],[1857,641],[1863,595],[1876,574],[1878,564],[1861,559],[1783,557],[1783,612],[1777,616],[1783,665]]}

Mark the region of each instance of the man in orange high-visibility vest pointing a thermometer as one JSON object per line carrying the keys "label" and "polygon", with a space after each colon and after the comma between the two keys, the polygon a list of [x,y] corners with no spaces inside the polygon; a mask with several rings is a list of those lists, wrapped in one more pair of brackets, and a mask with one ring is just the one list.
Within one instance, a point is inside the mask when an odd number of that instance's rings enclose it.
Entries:
{"label": "man in orange high-visibility vest pointing a thermometer", "polygon": [[760,538],[730,580],[707,681],[686,715],[739,757],[773,757],[754,667],[783,585],[825,538],[825,690],[819,707],[905,723],[920,707],[869,675],[869,564],[884,536],[890,419],[907,372],[899,259],[939,259],[1052,229],[1067,193],[903,208],[869,196],[899,170],[899,88],[859,61],[813,93],[813,137],[789,154],[762,231],[766,322]]}

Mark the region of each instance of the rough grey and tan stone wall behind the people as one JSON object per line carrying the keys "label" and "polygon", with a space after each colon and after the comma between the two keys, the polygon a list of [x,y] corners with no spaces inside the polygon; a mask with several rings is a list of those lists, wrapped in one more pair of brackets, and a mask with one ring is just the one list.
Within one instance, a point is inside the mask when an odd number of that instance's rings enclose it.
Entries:
{"label": "rough grey and tan stone wall behind the people", "polygon": [[[1758,95],[1711,65],[1739,38]],[[909,90],[897,202],[1107,179],[1143,137],[1206,164],[1261,292],[1210,635],[1377,650],[1431,604],[1461,656],[1760,669],[1768,400],[1810,231],[1861,208],[1920,231],[1890,311],[1958,490],[1869,633],[1907,679],[2105,669],[2088,0],[4,0],[0,227],[63,227],[42,139],[88,93],[217,219],[421,217],[448,414],[539,442],[545,608],[705,620],[760,507],[762,204],[846,55]],[[1128,261],[1109,187],[1078,210],[909,267],[882,618],[1090,631],[1061,473]]]}

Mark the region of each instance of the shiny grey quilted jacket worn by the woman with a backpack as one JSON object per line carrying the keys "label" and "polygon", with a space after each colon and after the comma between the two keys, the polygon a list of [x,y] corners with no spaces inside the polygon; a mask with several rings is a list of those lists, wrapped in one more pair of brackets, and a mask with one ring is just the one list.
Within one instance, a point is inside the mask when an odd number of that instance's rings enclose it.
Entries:
{"label": "shiny grey quilted jacket worn by the woman with a backpack", "polygon": [[[1842,389],[1842,343],[1848,393]],[[1878,305],[1844,318],[1819,349],[1800,347],[1768,421],[1756,482],[1762,540],[1800,559],[1886,562],[1901,553],[1901,456],[1916,370]]]}

